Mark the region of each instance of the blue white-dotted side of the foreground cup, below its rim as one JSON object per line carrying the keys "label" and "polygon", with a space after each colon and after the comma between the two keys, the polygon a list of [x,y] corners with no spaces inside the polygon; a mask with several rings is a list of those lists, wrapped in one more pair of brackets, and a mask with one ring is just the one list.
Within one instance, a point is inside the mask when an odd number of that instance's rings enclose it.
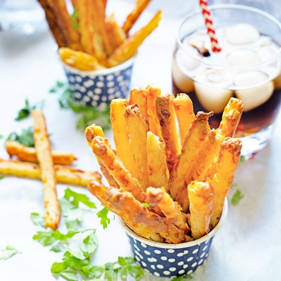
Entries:
{"label": "blue white-dotted side of the foreground cup, below its rim", "polygon": [[[208,256],[212,238],[182,249],[165,249],[150,246],[128,236],[134,256],[140,265],[155,276],[173,277],[191,274],[200,267]],[[167,244],[169,245],[169,244]]]}

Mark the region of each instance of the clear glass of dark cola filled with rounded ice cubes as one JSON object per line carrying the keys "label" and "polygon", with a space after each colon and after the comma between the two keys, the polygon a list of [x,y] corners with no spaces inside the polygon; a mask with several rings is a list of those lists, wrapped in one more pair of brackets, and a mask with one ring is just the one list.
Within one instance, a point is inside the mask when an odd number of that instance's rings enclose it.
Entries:
{"label": "clear glass of dark cola filled with rounded ice cubes", "polygon": [[280,107],[281,24],[248,6],[225,4],[209,9],[222,51],[210,51],[201,12],[186,16],[173,54],[173,92],[188,93],[195,112],[214,111],[209,119],[213,128],[219,126],[229,98],[242,99],[244,112],[236,136],[243,142],[242,155],[249,156],[267,145]]}

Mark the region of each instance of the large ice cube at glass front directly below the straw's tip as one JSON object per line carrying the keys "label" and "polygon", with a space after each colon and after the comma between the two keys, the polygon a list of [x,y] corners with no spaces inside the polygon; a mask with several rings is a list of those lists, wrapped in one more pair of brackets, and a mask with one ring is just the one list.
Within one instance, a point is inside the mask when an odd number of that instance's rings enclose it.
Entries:
{"label": "large ice cube at glass front directly below the straw's tip", "polygon": [[232,84],[229,77],[216,69],[205,69],[194,78],[196,96],[206,110],[220,113],[223,111],[233,92],[228,89]]}

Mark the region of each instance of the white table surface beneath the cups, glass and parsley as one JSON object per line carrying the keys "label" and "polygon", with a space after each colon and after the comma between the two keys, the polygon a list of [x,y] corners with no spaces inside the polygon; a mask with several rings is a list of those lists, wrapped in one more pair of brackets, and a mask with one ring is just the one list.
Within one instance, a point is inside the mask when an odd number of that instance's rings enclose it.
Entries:
{"label": "white table surface beneath the cups, glass and parsley", "polygon": [[[120,13],[126,14],[131,5],[115,2]],[[138,26],[151,14],[147,12]],[[139,48],[132,77],[132,87],[159,85],[171,91],[171,56],[178,18],[162,20],[159,28]],[[13,37],[13,38],[12,38]],[[56,55],[56,44],[49,33],[32,39],[0,34],[0,134],[32,125],[31,118],[15,122],[17,111],[25,98],[31,103],[45,100],[44,114],[52,133],[53,149],[72,151],[79,157],[75,167],[99,170],[98,164],[86,144],[83,133],[75,128],[77,116],[58,106],[58,95],[49,89],[56,80],[65,81]],[[281,119],[277,120],[271,143],[254,159],[240,164],[235,183],[244,194],[239,205],[229,204],[226,223],[215,237],[209,257],[194,274],[193,280],[280,280],[281,276]],[[106,136],[112,144],[112,132]],[[0,140],[0,157],[8,158],[4,139]],[[66,185],[58,184],[62,197]],[[84,192],[86,189],[72,188]],[[231,198],[236,188],[231,189]],[[30,220],[30,213],[44,214],[42,186],[37,180],[6,177],[0,181],[0,249],[13,245],[22,253],[7,261],[0,261],[0,280],[55,280],[50,272],[54,261],[61,260],[61,253],[49,251],[32,240],[39,229]],[[83,227],[96,228],[99,247],[94,264],[113,262],[119,255],[131,255],[125,233],[115,221],[103,230],[97,217],[87,213]],[[63,227],[60,230],[65,230]],[[146,274],[145,280],[161,278]]]}

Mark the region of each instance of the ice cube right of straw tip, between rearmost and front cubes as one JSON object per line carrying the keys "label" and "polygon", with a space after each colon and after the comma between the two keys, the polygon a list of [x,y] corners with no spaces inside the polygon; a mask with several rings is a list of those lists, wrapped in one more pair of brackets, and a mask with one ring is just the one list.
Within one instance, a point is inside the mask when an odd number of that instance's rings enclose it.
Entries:
{"label": "ice cube right of straw tip, between rearmost and front cubes", "polygon": [[261,59],[255,51],[235,50],[227,55],[226,61],[230,65],[247,65],[258,63],[261,61]]}

